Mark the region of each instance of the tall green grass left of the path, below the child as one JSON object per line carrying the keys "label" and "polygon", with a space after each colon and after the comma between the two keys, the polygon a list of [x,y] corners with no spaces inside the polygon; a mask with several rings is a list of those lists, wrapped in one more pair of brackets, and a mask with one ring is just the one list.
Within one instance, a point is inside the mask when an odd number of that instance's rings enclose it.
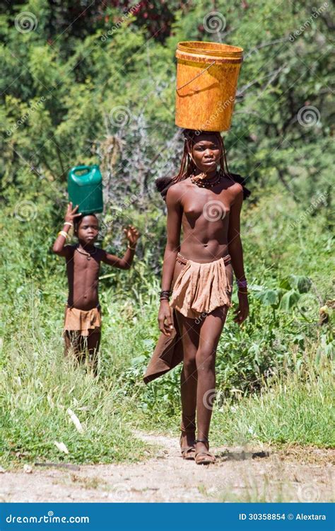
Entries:
{"label": "tall green grass left of the path, below the child", "polygon": [[[13,462],[122,462],[143,457],[145,446],[126,423],[131,399],[116,378],[94,379],[63,358],[42,330],[12,348],[0,373],[0,455]],[[71,421],[78,416],[83,433]],[[54,441],[63,442],[69,454]]]}

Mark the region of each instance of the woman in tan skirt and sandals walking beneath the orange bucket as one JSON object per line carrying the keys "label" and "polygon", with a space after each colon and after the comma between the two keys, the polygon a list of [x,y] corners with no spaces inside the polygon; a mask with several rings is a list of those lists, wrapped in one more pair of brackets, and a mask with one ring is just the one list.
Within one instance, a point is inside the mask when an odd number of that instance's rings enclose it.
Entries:
{"label": "woman in tan skirt and sandals walking beneath the orange bucket", "polygon": [[232,306],[233,273],[239,299],[234,321],[242,324],[249,311],[240,239],[240,211],[249,190],[230,175],[219,133],[184,130],[184,136],[180,172],[156,181],[167,205],[158,314],[162,334],[144,381],[183,361],[182,457],[209,464],[215,462],[208,432],[216,348]]}

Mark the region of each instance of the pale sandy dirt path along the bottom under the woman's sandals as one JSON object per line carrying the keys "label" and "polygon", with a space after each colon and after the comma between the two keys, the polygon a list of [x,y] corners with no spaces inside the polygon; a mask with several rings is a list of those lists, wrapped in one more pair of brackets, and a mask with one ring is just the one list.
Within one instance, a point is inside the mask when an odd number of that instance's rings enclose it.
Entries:
{"label": "pale sandy dirt path along the bottom under the woman's sandals", "polygon": [[[176,439],[137,433],[154,444],[139,464],[31,467],[0,474],[0,502],[331,501],[332,450],[212,448],[215,465],[184,461]],[[260,452],[257,457],[252,452]]]}

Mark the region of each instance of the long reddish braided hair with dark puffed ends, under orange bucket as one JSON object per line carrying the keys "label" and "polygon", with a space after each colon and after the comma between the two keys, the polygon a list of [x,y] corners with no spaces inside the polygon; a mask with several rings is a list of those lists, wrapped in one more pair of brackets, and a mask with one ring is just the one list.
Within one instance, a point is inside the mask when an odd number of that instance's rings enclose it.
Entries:
{"label": "long reddish braided hair with dark puffed ends, under orange bucket", "polygon": [[194,173],[196,165],[189,153],[192,153],[192,147],[197,142],[199,135],[214,135],[218,139],[219,146],[221,147],[220,155],[220,173],[221,176],[230,178],[234,183],[240,183],[243,188],[243,199],[246,199],[250,195],[250,190],[243,185],[244,179],[237,173],[230,173],[228,169],[227,156],[225,154],[225,144],[223,144],[223,138],[219,132],[216,131],[194,131],[192,129],[184,129],[184,150],[182,152],[182,162],[180,164],[180,171],[174,177],[160,177],[155,180],[155,185],[162,195],[163,199],[166,199],[167,190],[170,186],[180,181],[184,181]]}

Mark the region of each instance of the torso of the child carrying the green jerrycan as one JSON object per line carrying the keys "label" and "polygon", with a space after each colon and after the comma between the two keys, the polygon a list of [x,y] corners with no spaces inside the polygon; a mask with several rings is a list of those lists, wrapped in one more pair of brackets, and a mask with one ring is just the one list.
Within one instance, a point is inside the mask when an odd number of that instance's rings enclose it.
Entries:
{"label": "torso of the child carrying the green jerrycan", "polygon": [[[66,273],[69,282],[69,306],[89,310],[99,304],[98,284],[100,262],[105,251],[95,247],[92,256],[88,258],[71,246],[71,254],[66,260]],[[92,251],[91,251],[92,252]]]}

